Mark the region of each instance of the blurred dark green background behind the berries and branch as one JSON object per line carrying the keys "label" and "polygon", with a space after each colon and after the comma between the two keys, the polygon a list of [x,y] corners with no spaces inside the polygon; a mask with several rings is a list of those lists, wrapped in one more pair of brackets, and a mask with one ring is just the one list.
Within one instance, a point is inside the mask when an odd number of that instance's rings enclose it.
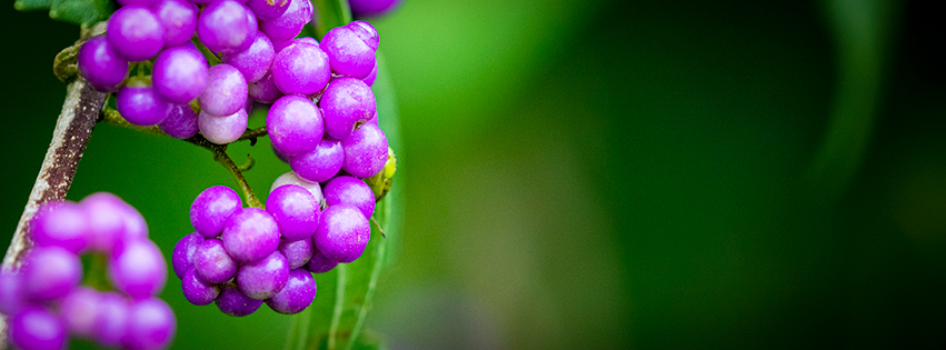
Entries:
{"label": "blurred dark green background behind the berries and branch", "polygon": [[[78,29],[3,11],[6,250]],[[944,18],[934,0],[405,0],[371,20],[406,218],[369,327],[391,349],[946,347]],[[245,153],[258,192],[288,171],[268,141]],[[99,126],[69,198],[120,196],[169,254],[213,184],[232,181],[209,152]],[[282,347],[288,318],[179,288],[173,348]]]}

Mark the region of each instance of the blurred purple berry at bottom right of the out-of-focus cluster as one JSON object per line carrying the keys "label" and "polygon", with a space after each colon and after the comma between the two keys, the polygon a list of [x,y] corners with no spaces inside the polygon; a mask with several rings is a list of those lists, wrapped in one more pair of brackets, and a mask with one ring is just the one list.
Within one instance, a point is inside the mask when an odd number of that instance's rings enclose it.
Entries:
{"label": "blurred purple berry at bottom right of the out-of-focus cluster", "polygon": [[175,338],[175,312],[161,299],[148,298],[128,307],[125,347],[131,350],[166,349]]}

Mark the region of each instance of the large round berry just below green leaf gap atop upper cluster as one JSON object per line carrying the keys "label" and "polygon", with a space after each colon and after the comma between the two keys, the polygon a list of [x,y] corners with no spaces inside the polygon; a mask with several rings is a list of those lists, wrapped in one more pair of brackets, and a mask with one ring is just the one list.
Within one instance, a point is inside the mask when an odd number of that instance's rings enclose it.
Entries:
{"label": "large round berry just below green leaf gap atop upper cluster", "polygon": [[331,77],[328,56],[311,44],[290,44],[282,49],[276,53],[270,69],[276,87],[287,94],[319,92]]}

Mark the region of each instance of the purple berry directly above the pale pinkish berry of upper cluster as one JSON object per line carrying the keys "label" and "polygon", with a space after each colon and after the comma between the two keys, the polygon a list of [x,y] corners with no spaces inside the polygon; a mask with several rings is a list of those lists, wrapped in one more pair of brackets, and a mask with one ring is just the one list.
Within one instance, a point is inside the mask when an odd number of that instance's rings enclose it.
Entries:
{"label": "purple berry directly above the pale pinkish berry of upper cluster", "polygon": [[247,80],[233,66],[213,66],[208,71],[207,88],[197,101],[200,103],[201,112],[211,116],[222,117],[236,113],[247,102]]}

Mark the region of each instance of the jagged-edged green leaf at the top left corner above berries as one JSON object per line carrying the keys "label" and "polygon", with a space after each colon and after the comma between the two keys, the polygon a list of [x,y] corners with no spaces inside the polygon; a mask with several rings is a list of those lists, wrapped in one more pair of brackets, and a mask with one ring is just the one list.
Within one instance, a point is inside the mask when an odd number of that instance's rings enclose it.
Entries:
{"label": "jagged-edged green leaf at the top left corner above berries", "polygon": [[108,19],[114,12],[111,0],[17,0],[20,11],[49,9],[49,17],[88,28]]}

